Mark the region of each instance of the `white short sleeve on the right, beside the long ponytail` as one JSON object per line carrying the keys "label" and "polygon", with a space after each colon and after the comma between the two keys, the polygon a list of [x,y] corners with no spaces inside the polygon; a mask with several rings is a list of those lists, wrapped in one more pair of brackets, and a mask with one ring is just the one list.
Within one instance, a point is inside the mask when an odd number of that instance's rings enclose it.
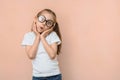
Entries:
{"label": "white short sleeve on the right, beside the long ponytail", "polygon": [[50,44],[52,43],[57,43],[58,45],[61,44],[61,40],[59,38],[59,36],[57,35],[56,32],[51,32],[50,34]]}

